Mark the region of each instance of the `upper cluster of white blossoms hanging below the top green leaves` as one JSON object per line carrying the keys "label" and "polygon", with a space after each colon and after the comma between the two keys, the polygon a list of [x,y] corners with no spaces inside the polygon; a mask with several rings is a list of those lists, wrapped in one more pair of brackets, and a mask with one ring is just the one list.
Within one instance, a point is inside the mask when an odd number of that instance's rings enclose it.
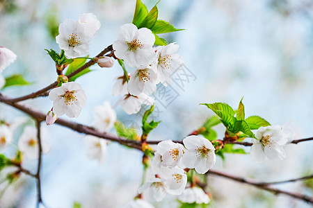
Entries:
{"label": "upper cluster of white blossoms hanging below the top green leaves", "polygon": [[122,105],[127,114],[137,113],[141,105],[152,105],[150,95],[157,91],[157,84],[168,85],[171,75],[182,66],[177,55],[178,45],[153,47],[155,37],[148,28],[138,29],[134,24],[125,24],[118,31],[118,40],[113,42],[114,54],[129,67],[135,67],[127,78],[121,76],[113,87],[113,95],[122,95],[115,105]]}

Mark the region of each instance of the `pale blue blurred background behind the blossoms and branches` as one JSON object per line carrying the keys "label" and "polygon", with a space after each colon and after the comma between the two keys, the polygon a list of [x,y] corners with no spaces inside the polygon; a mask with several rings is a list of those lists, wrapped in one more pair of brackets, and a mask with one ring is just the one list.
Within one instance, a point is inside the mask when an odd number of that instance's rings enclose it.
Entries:
{"label": "pale blue blurred background behind the blossoms and branches", "polygon": [[[150,10],[157,1],[143,3]],[[83,12],[97,16],[102,26],[90,44],[93,57],[115,41],[122,24],[131,22],[135,4],[135,0],[0,0],[0,46],[17,54],[17,60],[3,75],[23,73],[33,83],[10,87],[3,93],[22,96],[56,80],[54,62],[44,49],[60,51],[55,37],[62,21],[76,20]],[[199,103],[225,102],[236,109],[242,96],[246,116],[259,115],[271,124],[286,125],[295,131],[295,139],[312,137],[312,4],[310,0],[159,2],[159,19],[185,29],[163,37],[179,44],[178,53],[184,58],[188,75],[168,87],[176,95],[171,103],[156,102],[158,113],[154,119],[162,122],[149,139],[183,139],[213,115]],[[111,92],[114,79],[122,75],[117,62],[111,69],[96,65],[90,69],[93,72],[77,79],[88,97],[86,107],[79,118],[72,119],[86,125],[95,119],[93,107],[104,101],[114,105],[118,100]],[[52,106],[48,98],[24,103],[42,112]],[[140,115],[129,116],[120,106],[115,111],[119,121],[140,126]],[[25,114],[0,105],[0,119],[10,123],[19,116]],[[142,153],[138,150],[109,144],[104,163],[98,164],[86,157],[88,146],[83,135],[58,125],[45,128],[52,145],[42,165],[42,198],[47,207],[72,207],[74,202],[82,207],[120,207],[136,196],[143,172]],[[218,139],[223,139],[223,125],[215,129]],[[15,144],[21,132],[21,128],[15,132]],[[281,162],[256,164],[250,155],[226,155],[225,162],[218,158],[214,168],[264,182],[312,174],[312,141],[286,149],[287,157]],[[1,153],[13,157],[15,147]],[[35,171],[36,163],[25,159],[23,165]],[[312,186],[311,180],[277,187],[312,196]],[[23,175],[5,192],[2,184],[0,188],[0,207],[35,207],[33,178]],[[213,176],[209,176],[209,191],[213,196],[211,207],[310,207],[300,200]],[[177,201],[168,196],[154,205],[176,207]]]}

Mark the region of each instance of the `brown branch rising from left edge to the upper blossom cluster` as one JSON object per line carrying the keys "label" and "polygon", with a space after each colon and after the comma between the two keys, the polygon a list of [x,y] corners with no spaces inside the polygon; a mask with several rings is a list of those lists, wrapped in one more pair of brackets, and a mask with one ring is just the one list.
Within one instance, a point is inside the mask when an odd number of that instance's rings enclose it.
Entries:
{"label": "brown branch rising from left edge to the upper blossom cluster", "polygon": [[[109,51],[113,51],[113,46],[110,45],[108,46],[106,49],[104,49],[103,51],[101,51],[96,57],[99,58],[100,56],[103,56],[104,54],[108,53]],[[89,62],[87,62],[86,64],[83,64],[83,66],[79,67],[78,69],[76,69],[75,71],[73,71],[72,73],[70,73],[67,78],[72,78],[73,76],[77,75],[77,73],[83,71],[84,69],[87,69],[88,67],[92,66],[93,64],[95,64],[96,62],[94,60],[90,60]],[[48,85],[47,87],[44,87],[40,90],[38,90],[37,92],[33,92],[31,94],[27,94],[25,96],[20,96],[17,98],[10,98],[10,102],[19,102],[19,101],[25,101],[31,98],[37,98],[38,96],[46,96],[46,92],[49,89],[52,89],[54,87],[56,87],[58,85],[58,82],[54,82],[51,83],[51,85]]]}

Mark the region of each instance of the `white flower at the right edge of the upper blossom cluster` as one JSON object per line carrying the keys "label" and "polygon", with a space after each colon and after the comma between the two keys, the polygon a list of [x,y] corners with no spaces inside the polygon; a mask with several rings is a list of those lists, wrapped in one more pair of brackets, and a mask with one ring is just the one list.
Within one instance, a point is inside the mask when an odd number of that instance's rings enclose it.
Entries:
{"label": "white flower at the right edge of the upper blossom cluster", "polygon": [[164,86],[172,82],[172,73],[184,63],[182,57],[175,53],[177,50],[178,45],[175,43],[157,47],[157,73],[159,81]]}

